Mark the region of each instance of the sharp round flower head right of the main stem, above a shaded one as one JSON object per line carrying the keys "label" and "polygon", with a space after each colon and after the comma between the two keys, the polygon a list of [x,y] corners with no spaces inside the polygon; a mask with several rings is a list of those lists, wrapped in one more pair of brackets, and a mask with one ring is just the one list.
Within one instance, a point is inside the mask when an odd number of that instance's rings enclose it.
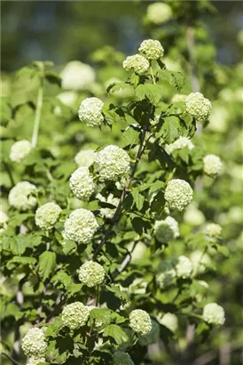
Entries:
{"label": "sharp round flower head right of the main stem, above a shaded one", "polygon": [[168,183],[165,190],[165,199],[169,209],[184,210],[192,201],[193,191],[189,183],[184,180],[173,179]]}

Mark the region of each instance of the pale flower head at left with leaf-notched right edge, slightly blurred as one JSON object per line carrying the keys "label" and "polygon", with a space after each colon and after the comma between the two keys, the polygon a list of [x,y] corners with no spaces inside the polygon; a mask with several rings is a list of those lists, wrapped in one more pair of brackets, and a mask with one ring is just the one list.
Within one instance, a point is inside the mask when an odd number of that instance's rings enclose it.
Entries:
{"label": "pale flower head at left with leaf-notched right edge, slightly blurred", "polygon": [[9,193],[9,204],[19,210],[27,210],[36,206],[37,199],[33,196],[37,188],[33,183],[17,183]]}

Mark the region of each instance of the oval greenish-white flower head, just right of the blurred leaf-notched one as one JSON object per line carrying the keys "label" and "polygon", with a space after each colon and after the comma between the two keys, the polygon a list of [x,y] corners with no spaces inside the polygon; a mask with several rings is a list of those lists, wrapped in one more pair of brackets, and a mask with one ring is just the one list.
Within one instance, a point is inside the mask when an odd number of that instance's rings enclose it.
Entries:
{"label": "oval greenish-white flower head, just right of the blurred leaf-notched one", "polygon": [[35,224],[44,231],[49,231],[58,221],[61,208],[55,203],[46,203],[35,212]]}

